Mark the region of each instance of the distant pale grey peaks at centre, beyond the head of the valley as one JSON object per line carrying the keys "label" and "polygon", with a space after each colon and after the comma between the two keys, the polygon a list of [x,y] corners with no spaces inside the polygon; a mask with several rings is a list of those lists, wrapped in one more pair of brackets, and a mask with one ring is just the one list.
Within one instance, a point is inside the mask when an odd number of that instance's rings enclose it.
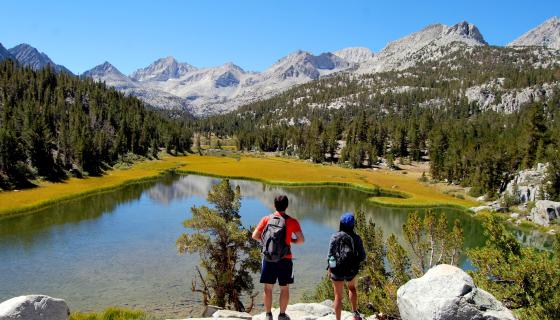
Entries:
{"label": "distant pale grey peaks at centre, beyond the head of the valley", "polygon": [[207,114],[229,111],[352,66],[353,63],[332,53],[313,55],[300,50],[260,73],[245,71],[233,63],[196,68],[167,57],[138,69],[130,76],[116,69],[116,72],[107,70],[105,74],[104,65],[86,71],[83,76],[115,86],[156,107],[176,109],[180,105],[182,109],[190,109],[196,114]]}

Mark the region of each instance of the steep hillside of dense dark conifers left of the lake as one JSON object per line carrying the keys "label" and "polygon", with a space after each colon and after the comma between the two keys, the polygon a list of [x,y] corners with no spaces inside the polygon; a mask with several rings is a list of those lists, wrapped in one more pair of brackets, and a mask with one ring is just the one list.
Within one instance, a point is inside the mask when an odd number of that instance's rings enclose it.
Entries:
{"label": "steep hillside of dense dark conifers left of the lake", "polygon": [[100,175],[128,157],[191,145],[184,124],[115,89],[52,69],[0,62],[0,189]]}

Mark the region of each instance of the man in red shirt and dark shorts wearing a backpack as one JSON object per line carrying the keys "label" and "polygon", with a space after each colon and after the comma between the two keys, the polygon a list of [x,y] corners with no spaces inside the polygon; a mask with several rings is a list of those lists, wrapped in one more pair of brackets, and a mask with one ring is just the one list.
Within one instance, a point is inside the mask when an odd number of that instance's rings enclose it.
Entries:
{"label": "man in red shirt and dark shorts wearing a backpack", "polygon": [[262,243],[263,262],[261,269],[261,283],[264,284],[265,320],[272,317],[272,289],[278,280],[280,285],[280,314],[278,320],[290,320],[286,314],[290,289],[288,285],[294,283],[292,243],[303,243],[305,238],[299,222],[286,214],[288,197],[285,195],[274,198],[276,212],[263,217],[255,231],[253,239]]}

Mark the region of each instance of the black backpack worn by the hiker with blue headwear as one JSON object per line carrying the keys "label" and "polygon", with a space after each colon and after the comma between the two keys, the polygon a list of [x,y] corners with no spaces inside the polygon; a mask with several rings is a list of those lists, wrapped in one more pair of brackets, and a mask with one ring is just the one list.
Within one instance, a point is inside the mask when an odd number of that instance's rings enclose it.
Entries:
{"label": "black backpack worn by the hiker with blue headwear", "polygon": [[335,233],[329,255],[336,261],[336,266],[331,269],[335,273],[348,274],[359,267],[354,239],[344,231]]}

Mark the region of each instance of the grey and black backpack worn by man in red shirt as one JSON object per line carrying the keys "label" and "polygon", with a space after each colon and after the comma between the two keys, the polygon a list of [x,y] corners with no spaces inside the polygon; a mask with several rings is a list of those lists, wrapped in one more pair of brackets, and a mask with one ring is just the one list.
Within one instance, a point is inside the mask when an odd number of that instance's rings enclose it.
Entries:
{"label": "grey and black backpack worn by man in red shirt", "polygon": [[286,220],[288,217],[271,214],[263,230],[262,253],[264,259],[278,262],[290,253],[290,246],[286,244]]}

